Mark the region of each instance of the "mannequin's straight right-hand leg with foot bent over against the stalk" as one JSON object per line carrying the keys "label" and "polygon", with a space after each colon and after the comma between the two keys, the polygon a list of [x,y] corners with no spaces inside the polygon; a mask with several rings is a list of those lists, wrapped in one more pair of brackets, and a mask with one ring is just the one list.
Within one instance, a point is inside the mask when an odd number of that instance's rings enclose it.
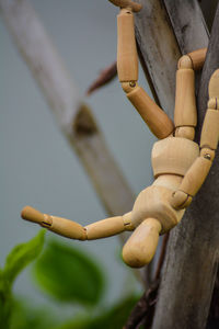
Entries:
{"label": "mannequin's straight right-hand leg with foot bent over against the stalk", "polygon": [[175,91],[175,136],[194,139],[197,124],[195,72],[204,65],[207,48],[184,55],[178,60]]}

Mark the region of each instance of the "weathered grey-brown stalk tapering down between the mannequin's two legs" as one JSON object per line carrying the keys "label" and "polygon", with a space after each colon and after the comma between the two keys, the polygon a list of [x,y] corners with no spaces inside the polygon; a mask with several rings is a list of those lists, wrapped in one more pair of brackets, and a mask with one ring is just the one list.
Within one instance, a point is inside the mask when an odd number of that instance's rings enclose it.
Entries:
{"label": "weathered grey-brown stalk tapering down between the mannequin's two legs", "polygon": [[177,42],[169,24],[164,5],[159,0],[141,0],[135,15],[136,38],[147,76],[161,107],[173,117],[175,70],[181,57]]}

